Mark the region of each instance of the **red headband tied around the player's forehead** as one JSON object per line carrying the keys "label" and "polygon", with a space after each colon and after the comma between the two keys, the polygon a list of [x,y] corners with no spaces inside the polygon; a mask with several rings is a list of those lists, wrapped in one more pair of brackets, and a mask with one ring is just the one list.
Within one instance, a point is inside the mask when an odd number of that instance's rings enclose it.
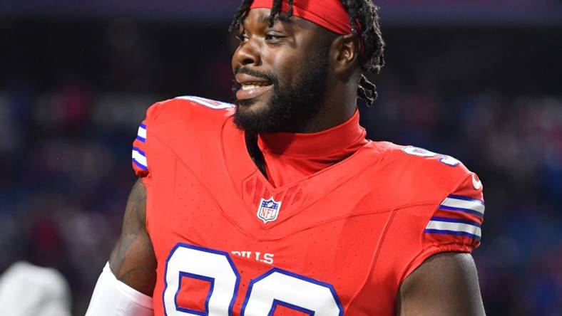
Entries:
{"label": "red headband tied around the player's forehead", "polygon": [[[272,0],[255,0],[250,9],[271,9]],[[283,1],[282,12],[289,11],[289,2]],[[349,25],[349,15],[339,0],[295,0],[293,2],[292,14],[302,19],[316,23],[330,31],[338,34],[350,34],[352,28]]]}

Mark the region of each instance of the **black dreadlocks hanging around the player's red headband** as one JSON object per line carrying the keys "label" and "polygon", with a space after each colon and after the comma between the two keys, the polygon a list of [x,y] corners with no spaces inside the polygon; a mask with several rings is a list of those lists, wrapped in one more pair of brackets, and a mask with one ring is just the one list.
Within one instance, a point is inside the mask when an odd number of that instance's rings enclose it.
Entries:
{"label": "black dreadlocks hanging around the player's red headband", "polygon": [[[363,72],[378,74],[384,66],[384,40],[379,21],[379,7],[375,6],[371,0],[340,0],[349,15],[349,23],[352,26],[352,32],[361,36],[364,43],[364,53],[360,56],[361,68]],[[240,6],[236,10],[233,21],[230,23],[229,31],[237,30],[240,23],[245,19],[253,0],[242,0]],[[293,0],[288,0],[289,11],[287,14],[292,16]],[[282,0],[273,0],[270,15],[270,26],[273,26],[275,16],[281,11]],[[361,26],[357,29],[357,22]],[[359,34],[361,31],[361,34]],[[377,87],[370,82],[364,73],[359,79],[359,88],[357,88],[359,98],[367,102],[367,106],[372,106],[377,100]]]}

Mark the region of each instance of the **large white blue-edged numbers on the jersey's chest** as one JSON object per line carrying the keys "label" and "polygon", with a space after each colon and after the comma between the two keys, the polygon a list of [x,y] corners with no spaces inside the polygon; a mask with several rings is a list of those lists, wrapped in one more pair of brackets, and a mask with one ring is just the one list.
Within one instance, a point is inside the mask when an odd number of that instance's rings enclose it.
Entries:
{"label": "large white blue-edged numbers on the jersey's chest", "polygon": [[[164,278],[165,315],[233,315],[240,273],[228,253],[178,243],[166,260]],[[203,310],[178,305],[183,278],[210,283]],[[279,268],[272,268],[250,281],[240,315],[271,316],[280,306],[305,315],[343,315],[343,307],[332,285]]]}

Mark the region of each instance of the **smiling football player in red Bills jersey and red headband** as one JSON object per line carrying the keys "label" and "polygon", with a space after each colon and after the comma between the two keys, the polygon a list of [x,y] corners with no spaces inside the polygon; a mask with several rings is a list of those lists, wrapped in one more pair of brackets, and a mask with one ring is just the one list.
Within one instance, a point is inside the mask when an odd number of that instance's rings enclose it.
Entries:
{"label": "smiling football player in red Bills jersey and red headband", "polygon": [[235,105],[159,102],[87,315],[484,315],[482,185],[365,139],[383,49],[370,0],[244,0]]}

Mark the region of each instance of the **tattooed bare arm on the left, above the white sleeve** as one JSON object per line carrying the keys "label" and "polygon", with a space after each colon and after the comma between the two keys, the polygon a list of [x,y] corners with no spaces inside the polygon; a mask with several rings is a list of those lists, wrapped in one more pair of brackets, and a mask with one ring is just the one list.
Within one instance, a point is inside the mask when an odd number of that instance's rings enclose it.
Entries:
{"label": "tattooed bare arm on the left, above the white sleeve", "polygon": [[118,280],[152,296],[156,282],[156,258],[145,223],[146,188],[138,179],[129,194],[123,229],[111,251],[109,267]]}

